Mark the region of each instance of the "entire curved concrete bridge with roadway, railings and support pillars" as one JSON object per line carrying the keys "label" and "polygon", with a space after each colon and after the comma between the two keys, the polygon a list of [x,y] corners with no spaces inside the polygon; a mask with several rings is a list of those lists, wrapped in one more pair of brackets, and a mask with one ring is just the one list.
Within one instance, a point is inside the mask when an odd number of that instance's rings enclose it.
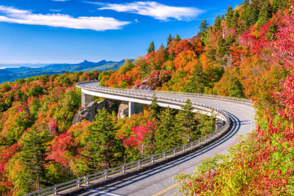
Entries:
{"label": "entire curved concrete bridge with roadway, railings and support pillars", "polygon": [[215,133],[178,148],[48,187],[26,196],[173,195],[178,187],[178,184],[173,182],[173,177],[182,172],[192,173],[203,158],[219,152],[227,153],[228,148],[236,143],[238,135],[246,135],[254,125],[255,110],[252,102],[246,99],[196,93],[108,88],[99,86],[98,81],[79,82],[76,86],[81,88],[84,105],[92,100],[91,96],[128,101],[129,115],[131,115],[133,103],[150,104],[155,93],[158,104],[163,107],[180,109],[189,98],[195,111],[206,115],[213,113],[220,119],[219,121],[225,123],[224,125],[221,123]]}

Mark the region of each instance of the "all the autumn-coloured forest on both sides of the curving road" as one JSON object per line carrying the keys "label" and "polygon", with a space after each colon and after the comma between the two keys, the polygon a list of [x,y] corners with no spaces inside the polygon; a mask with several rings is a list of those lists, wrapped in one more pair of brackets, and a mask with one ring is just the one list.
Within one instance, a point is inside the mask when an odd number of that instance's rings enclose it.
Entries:
{"label": "all the autumn-coloured forest on both sides of the curving road", "polygon": [[[101,110],[72,126],[81,107],[77,81],[120,88],[248,98],[256,129],[229,155],[178,175],[179,195],[294,194],[294,8],[292,1],[245,0],[190,38],[167,38],[118,71],[36,76],[0,85],[0,195],[34,190],[115,167],[214,131],[213,117],[159,108],[117,119]],[[145,85],[145,86],[143,86]],[[166,138],[171,138],[167,140]],[[241,137],[242,138],[242,137]]]}

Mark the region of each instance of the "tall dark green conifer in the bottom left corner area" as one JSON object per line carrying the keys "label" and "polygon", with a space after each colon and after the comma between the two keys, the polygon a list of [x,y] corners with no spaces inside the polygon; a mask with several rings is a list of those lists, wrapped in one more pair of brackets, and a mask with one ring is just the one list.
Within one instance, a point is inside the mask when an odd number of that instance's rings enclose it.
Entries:
{"label": "tall dark green conifer in the bottom left corner area", "polygon": [[27,132],[21,140],[22,153],[20,156],[21,163],[24,165],[21,174],[21,189],[23,192],[34,192],[50,185],[46,179],[47,169],[46,164],[49,160],[46,159],[46,142],[49,138],[49,133],[38,133],[35,127]]}

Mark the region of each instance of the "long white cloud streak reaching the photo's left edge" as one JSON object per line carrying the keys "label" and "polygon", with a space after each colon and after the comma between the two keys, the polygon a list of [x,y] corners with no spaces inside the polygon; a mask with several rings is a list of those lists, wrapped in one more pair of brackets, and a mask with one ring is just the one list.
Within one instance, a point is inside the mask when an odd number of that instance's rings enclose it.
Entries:
{"label": "long white cloud streak reaching the photo's left edge", "polygon": [[105,31],[110,29],[121,29],[130,24],[127,21],[119,21],[110,17],[77,17],[66,14],[33,14],[28,10],[20,10],[14,7],[0,6],[0,22],[45,25],[53,27],[64,27],[71,29],[91,29]]}

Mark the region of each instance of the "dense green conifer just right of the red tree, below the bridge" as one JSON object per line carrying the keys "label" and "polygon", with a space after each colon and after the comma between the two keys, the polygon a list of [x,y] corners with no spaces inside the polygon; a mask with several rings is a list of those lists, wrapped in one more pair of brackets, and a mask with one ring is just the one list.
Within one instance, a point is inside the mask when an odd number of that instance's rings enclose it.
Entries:
{"label": "dense green conifer just right of the red tree, below the bridge", "polygon": [[155,132],[155,153],[161,153],[181,145],[181,135],[175,128],[174,120],[174,112],[171,108],[167,107],[161,111]]}

